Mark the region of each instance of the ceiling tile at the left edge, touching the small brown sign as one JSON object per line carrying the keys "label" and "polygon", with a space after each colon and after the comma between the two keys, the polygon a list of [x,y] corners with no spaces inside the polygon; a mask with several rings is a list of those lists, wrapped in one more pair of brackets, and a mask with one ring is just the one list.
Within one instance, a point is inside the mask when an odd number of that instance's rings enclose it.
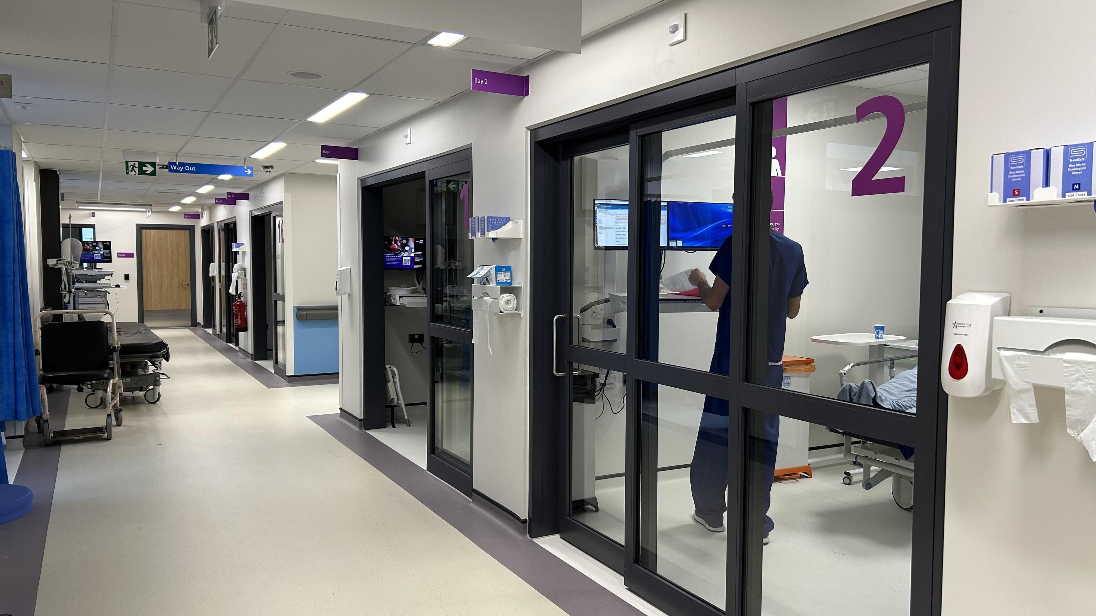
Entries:
{"label": "ceiling tile at the left edge, touching the small brown sign", "polygon": [[106,102],[106,65],[0,54],[15,96]]}

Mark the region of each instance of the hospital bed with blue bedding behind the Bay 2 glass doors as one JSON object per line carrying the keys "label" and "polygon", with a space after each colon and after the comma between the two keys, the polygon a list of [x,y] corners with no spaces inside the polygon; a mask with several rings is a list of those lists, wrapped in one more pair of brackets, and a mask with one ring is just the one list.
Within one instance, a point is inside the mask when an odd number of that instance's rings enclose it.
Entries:
{"label": "hospital bed with blue bedding behind the Bay 2 glass doors", "polygon": [[[838,400],[856,402],[879,409],[901,411],[916,414],[917,412],[917,368],[911,368],[895,375],[895,362],[914,360],[917,355],[899,355],[855,362],[841,370],[841,390]],[[890,380],[876,385],[871,380],[859,385],[846,383],[848,370],[856,366],[886,363],[889,364]],[[907,445],[900,445],[878,438],[855,434],[844,430],[830,429],[844,438],[843,456],[846,460],[863,468],[861,487],[870,490],[887,479],[891,480],[891,497],[894,504],[910,511],[913,509],[913,476],[914,450]],[[878,469],[872,475],[872,469]],[[842,482],[850,484],[854,479],[852,471],[845,472]]]}

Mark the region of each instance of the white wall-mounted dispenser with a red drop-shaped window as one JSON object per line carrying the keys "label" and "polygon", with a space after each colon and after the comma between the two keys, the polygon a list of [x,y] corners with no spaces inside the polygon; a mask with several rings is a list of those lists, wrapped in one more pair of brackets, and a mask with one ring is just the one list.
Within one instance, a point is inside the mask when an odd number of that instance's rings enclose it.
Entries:
{"label": "white wall-mounted dispenser with a red drop-shaped window", "polygon": [[1008,316],[1007,293],[964,293],[948,301],[944,319],[944,391],[960,398],[985,396],[1004,385],[993,378],[993,319]]}

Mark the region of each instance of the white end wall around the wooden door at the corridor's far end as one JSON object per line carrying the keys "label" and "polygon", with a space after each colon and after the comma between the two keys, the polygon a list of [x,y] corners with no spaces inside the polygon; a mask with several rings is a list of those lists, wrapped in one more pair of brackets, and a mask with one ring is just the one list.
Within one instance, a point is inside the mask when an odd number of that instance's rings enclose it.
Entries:
{"label": "white end wall around the wooden door at the corridor's far end", "polygon": [[[92,216],[94,214],[94,216]],[[153,212],[146,217],[144,212],[92,212],[76,209],[71,202],[61,203],[61,226],[68,225],[69,215],[73,225],[94,225],[95,239],[111,242],[114,252],[113,263],[100,265],[103,270],[113,270],[114,275],[106,281],[111,284],[124,285],[126,288],[111,290],[111,308],[119,321],[137,320],[137,225],[187,225],[196,227],[197,220],[183,218],[181,212]],[[118,258],[119,252],[133,252],[133,259]],[[202,319],[202,233],[194,230],[194,271],[191,272],[191,292],[195,294],[197,318]],[[129,274],[129,281],[125,280]]]}

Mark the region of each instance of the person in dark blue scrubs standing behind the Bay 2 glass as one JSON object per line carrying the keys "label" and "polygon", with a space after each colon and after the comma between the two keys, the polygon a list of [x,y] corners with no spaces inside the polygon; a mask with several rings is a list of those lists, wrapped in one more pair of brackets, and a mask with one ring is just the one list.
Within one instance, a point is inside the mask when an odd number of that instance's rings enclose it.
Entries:
{"label": "person in dark blue scrubs standing behind the Bay 2 glass", "polygon": [[[731,306],[726,281],[731,280],[731,240],[729,236],[716,252],[709,269],[716,274],[709,285],[708,277],[700,270],[689,273],[689,282],[697,286],[700,299],[711,310],[719,310],[716,333],[716,350],[711,355],[710,372],[730,373]],[[799,301],[807,287],[807,265],[803,263],[803,248],[798,242],[777,232],[769,231],[768,251],[768,340],[766,360],[768,372],[765,384],[781,387],[784,384],[784,335],[787,319],[799,315]],[[776,446],[780,435],[779,415],[763,413],[765,418],[765,522],[763,540],[768,543],[773,531],[773,520],[768,516],[769,491],[773,489],[773,471],[776,468]],[[722,398],[708,396],[704,400],[700,415],[700,431],[693,452],[689,481],[693,487],[693,520],[713,533],[726,531],[723,514],[727,512],[727,442],[728,403]]]}

